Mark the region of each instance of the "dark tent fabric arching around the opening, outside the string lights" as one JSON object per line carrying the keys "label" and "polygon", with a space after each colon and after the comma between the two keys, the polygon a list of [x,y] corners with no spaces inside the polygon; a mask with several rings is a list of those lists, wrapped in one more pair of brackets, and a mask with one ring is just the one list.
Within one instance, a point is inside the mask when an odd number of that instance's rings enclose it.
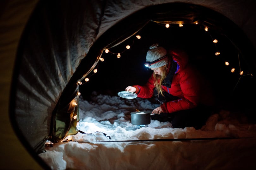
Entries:
{"label": "dark tent fabric arching around the opening, outside the string lights", "polygon": [[254,5],[254,1],[39,1],[23,30],[11,82],[9,114],[18,138],[37,158],[46,140],[57,142],[76,134],[80,82],[85,83],[105,49],[150,23],[198,23],[226,36],[253,75]]}

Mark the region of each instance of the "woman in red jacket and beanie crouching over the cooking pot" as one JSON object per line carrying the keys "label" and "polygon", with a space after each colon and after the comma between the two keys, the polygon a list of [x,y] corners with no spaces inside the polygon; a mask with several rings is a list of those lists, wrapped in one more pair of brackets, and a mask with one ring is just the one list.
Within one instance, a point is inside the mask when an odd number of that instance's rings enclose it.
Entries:
{"label": "woman in red jacket and beanie crouching over the cooking pot", "polygon": [[145,66],[154,71],[147,83],[128,86],[125,91],[134,92],[141,98],[156,97],[160,106],[152,111],[151,119],[169,121],[173,128],[201,128],[209,117],[206,106],[212,106],[214,98],[210,85],[189,64],[187,54],[167,52],[153,44],[149,47],[146,61]]}

